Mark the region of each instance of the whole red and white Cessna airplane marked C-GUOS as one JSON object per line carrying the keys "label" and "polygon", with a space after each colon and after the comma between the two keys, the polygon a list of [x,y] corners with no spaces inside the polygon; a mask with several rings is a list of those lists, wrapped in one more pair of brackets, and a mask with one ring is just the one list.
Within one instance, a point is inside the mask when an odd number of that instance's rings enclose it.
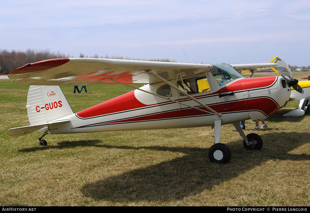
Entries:
{"label": "whole red and white Cessna airplane marked C-GUOS", "polygon": [[[279,62],[284,65],[280,66]],[[121,59],[51,59],[28,63],[8,77],[31,85],[27,98],[30,126],[11,128],[10,136],[34,131],[46,134],[90,133],[143,129],[211,126],[215,143],[211,162],[228,163],[231,152],[220,143],[221,125],[233,124],[249,150],[263,146],[255,133],[247,136],[239,121],[263,120],[284,107],[291,87],[302,92],[298,80],[285,76],[287,64],[195,64]],[[281,76],[244,78],[236,70],[277,69]],[[287,69],[288,68],[288,69]],[[236,70],[235,70],[236,69]],[[96,106],[73,113],[59,85],[118,83],[143,87]],[[40,145],[47,141],[38,138]]]}

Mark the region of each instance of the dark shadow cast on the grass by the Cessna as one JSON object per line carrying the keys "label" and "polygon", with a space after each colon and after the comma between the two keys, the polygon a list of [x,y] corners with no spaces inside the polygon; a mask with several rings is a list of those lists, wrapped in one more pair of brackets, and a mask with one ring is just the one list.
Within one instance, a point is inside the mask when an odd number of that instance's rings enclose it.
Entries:
{"label": "dark shadow cast on the grass by the Cessna", "polygon": [[261,150],[245,150],[240,140],[230,142],[228,146],[232,159],[228,164],[211,163],[207,148],[98,144],[96,146],[107,149],[149,149],[182,152],[185,155],[88,183],[82,187],[81,192],[86,197],[111,202],[179,200],[212,189],[268,160],[310,160],[308,154],[288,153],[308,143],[310,133],[266,133],[262,138],[268,142],[264,143]]}

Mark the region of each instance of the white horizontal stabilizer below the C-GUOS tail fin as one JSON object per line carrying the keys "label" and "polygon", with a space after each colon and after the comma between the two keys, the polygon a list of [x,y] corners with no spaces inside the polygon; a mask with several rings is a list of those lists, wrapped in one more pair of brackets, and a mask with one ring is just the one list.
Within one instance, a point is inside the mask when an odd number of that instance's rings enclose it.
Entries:
{"label": "white horizontal stabilizer below the C-GUOS tail fin", "polygon": [[54,121],[54,122],[49,122],[49,123],[45,123],[45,124],[11,128],[7,131],[7,134],[9,136],[12,136],[12,137],[19,137],[19,136],[24,136],[24,135],[28,135],[30,133],[33,133],[33,132],[35,132],[39,129],[42,129],[45,126],[50,125],[50,124],[64,124],[64,123],[68,123],[68,122],[70,122],[70,120],[60,120],[60,121]]}

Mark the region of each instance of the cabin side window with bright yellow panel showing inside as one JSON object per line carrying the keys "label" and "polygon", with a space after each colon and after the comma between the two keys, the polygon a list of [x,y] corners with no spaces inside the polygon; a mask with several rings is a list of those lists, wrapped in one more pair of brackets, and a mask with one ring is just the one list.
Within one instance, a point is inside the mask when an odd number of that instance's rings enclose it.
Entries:
{"label": "cabin side window with bright yellow panel showing inside", "polygon": [[[178,87],[189,95],[210,91],[210,85],[206,76],[187,78],[183,82],[179,80]],[[180,95],[183,96],[184,94],[180,93]]]}

